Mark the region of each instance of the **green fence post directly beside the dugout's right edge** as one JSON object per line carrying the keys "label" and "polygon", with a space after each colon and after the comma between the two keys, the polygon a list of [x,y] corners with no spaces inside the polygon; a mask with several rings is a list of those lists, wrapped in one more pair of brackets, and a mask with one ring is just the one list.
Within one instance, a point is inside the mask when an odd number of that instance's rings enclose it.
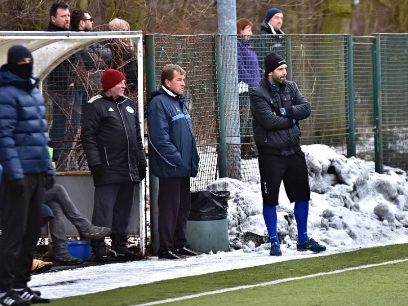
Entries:
{"label": "green fence post directly beside the dugout's right edge", "polygon": [[[156,64],[155,64],[155,35],[145,35],[145,58],[146,58],[146,97],[156,87]],[[149,159],[150,163],[150,159]],[[150,239],[153,254],[159,250],[159,179],[151,173],[149,167],[149,195],[150,195]]]}

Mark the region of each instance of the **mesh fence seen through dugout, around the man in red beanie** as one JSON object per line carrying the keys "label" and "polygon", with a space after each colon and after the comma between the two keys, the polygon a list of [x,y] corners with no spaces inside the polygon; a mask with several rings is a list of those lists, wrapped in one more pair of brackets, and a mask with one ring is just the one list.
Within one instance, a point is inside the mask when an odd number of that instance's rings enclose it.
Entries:
{"label": "mesh fence seen through dugout, around the man in red beanie", "polygon": [[57,171],[87,171],[80,133],[82,110],[101,90],[100,78],[108,68],[126,75],[125,95],[136,103],[137,47],[130,38],[113,38],[80,49],[65,59],[43,82],[50,147]]}

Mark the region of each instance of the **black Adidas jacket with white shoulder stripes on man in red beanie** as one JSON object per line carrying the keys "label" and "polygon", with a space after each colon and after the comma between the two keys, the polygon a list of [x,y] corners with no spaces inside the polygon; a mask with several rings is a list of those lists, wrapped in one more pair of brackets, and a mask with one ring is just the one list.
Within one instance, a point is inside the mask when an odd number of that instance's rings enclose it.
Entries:
{"label": "black Adidas jacket with white shoulder stripes on man in red beanie", "polygon": [[[137,105],[128,97],[92,97],[84,107],[82,145],[95,186],[139,183],[147,166]],[[97,171],[96,171],[97,169]]]}

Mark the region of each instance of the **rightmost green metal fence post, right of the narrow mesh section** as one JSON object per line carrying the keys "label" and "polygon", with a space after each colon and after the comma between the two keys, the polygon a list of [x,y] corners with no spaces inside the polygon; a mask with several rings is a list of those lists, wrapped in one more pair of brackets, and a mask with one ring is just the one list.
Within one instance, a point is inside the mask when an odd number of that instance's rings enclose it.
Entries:
{"label": "rightmost green metal fence post, right of the narrow mesh section", "polygon": [[375,172],[382,173],[382,99],[381,99],[381,36],[377,34],[373,43],[373,103],[374,103],[374,150]]}

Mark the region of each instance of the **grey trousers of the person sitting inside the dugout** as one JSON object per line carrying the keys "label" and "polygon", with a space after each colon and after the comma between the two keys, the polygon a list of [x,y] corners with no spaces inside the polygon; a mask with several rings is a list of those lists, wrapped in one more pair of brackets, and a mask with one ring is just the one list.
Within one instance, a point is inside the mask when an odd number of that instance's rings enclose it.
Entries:
{"label": "grey trousers of the person sitting inside the dugout", "polygon": [[62,185],[55,184],[53,188],[45,191],[44,201],[54,214],[54,218],[49,222],[51,238],[53,239],[53,252],[54,254],[66,253],[68,249],[64,216],[77,227],[80,233],[91,226],[91,222],[75,207]]}

